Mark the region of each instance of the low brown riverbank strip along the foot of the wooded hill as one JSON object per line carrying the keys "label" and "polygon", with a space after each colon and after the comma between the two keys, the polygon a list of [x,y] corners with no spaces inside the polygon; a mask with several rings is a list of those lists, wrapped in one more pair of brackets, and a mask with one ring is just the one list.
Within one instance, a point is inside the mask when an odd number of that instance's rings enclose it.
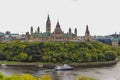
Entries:
{"label": "low brown riverbank strip along the foot of the wooded hill", "polygon": [[[119,60],[114,61],[105,61],[105,62],[86,62],[86,63],[72,63],[69,64],[73,68],[88,68],[88,67],[102,67],[102,66],[110,66],[114,65]],[[63,64],[55,64],[55,63],[23,63],[23,62],[11,62],[11,61],[0,61],[0,65],[5,64],[7,67],[24,67],[24,68],[34,68],[34,69],[53,69],[56,65]]]}

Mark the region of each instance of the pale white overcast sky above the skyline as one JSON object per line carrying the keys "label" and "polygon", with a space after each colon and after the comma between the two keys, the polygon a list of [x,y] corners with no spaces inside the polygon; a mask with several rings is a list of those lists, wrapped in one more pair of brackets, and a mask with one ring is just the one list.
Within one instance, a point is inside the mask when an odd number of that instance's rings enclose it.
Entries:
{"label": "pale white overcast sky above the skyline", "polygon": [[86,25],[91,35],[120,32],[119,0],[0,0],[0,32],[22,34],[31,26],[45,32],[48,14],[52,32],[57,21],[64,32],[77,28],[78,36]]}

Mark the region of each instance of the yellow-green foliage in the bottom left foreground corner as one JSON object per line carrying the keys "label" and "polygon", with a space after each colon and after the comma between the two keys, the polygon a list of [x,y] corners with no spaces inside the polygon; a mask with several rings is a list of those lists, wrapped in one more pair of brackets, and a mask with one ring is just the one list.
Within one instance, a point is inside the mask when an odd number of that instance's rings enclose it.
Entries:
{"label": "yellow-green foliage in the bottom left foreground corner", "polygon": [[52,78],[49,75],[43,75],[40,78],[36,78],[30,74],[4,76],[0,73],[0,80],[52,80]]}

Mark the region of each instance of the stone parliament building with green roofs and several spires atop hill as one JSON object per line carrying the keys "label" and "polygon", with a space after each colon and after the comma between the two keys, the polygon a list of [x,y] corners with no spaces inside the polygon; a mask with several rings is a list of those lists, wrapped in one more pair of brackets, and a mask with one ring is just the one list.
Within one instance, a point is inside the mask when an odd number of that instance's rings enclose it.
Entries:
{"label": "stone parliament building with green roofs and several spires atop hill", "polygon": [[30,29],[30,33],[26,33],[26,38],[28,41],[74,41],[77,40],[77,29],[75,28],[74,33],[72,33],[71,28],[69,28],[68,33],[64,33],[60,27],[59,21],[57,21],[56,27],[53,32],[51,32],[51,21],[48,15],[46,21],[46,32],[40,32],[40,28],[34,32],[33,27]]}

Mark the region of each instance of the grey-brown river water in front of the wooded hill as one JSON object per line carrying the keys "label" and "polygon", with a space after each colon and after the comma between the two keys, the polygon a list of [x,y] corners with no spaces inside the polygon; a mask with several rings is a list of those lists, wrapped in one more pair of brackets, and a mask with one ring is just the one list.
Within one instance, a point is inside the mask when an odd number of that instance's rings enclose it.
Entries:
{"label": "grey-brown river water in front of the wooded hill", "polygon": [[55,71],[54,69],[34,70],[30,68],[0,68],[4,75],[29,73],[33,76],[40,77],[48,74],[53,80],[75,80],[78,76],[94,77],[98,80],[120,80],[120,62],[107,67],[96,68],[78,68],[71,71]]}

